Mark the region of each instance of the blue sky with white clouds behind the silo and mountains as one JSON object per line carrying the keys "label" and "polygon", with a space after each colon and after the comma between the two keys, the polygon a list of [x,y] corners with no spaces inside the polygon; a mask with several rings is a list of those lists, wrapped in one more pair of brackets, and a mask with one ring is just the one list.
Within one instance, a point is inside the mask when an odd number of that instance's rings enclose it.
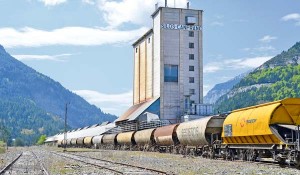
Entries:
{"label": "blue sky with white clouds behind the silo and mountains", "polygon": [[[0,0],[0,44],[104,112],[132,105],[132,43],[163,0]],[[169,0],[185,7],[187,0]],[[190,0],[203,13],[204,94],[300,41],[300,1]]]}

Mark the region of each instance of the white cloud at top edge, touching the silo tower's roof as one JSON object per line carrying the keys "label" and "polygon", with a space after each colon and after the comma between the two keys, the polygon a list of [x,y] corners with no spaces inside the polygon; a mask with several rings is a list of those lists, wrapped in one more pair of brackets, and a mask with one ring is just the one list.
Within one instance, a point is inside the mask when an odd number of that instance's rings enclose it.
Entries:
{"label": "white cloud at top edge, touching the silo tower's roof", "polygon": [[[187,0],[168,1],[169,7],[186,7]],[[103,12],[104,20],[111,27],[118,27],[124,23],[147,25],[150,15],[154,12],[155,4],[164,6],[164,0],[99,0],[98,8]]]}

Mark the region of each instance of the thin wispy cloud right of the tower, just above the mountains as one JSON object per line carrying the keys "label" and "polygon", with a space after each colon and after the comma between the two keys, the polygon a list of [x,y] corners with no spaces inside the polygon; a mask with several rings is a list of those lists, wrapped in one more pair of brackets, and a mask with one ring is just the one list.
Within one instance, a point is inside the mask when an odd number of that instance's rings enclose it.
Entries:
{"label": "thin wispy cloud right of the tower, just above the mountains", "polygon": [[252,69],[262,65],[273,56],[260,56],[253,58],[225,59],[221,62],[211,62],[203,67],[204,73],[215,73],[223,70]]}

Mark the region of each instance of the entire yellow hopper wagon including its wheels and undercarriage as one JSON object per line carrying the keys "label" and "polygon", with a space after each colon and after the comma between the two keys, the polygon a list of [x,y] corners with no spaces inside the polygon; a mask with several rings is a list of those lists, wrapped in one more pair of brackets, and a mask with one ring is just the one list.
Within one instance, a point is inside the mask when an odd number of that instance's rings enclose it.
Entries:
{"label": "entire yellow hopper wagon including its wheels and undercarriage", "polygon": [[288,98],[232,111],[224,121],[227,159],[273,158],[300,166],[300,99]]}

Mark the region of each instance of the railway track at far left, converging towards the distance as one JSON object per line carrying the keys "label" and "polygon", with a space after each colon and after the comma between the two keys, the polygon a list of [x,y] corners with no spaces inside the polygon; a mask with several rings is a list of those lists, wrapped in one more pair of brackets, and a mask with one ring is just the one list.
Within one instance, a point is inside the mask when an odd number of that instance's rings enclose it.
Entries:
{"label": "railway track at far left, converging towards the distance", "polygon": [[31,151],[20,153],[14,160],[0,170],[0,175],[49,175],[43,163],[38,159],[37,155]]}

